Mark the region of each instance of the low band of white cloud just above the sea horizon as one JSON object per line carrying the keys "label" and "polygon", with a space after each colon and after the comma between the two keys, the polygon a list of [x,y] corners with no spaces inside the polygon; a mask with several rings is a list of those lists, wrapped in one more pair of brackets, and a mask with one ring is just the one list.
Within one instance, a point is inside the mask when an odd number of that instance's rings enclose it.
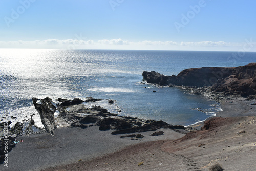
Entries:
{"label": "low band of white cloud just above the sea horizon", "polygon": [[135,50],[214,50],[214,51],[256,51],[256,42],[246,39],[244,43],[224,41],[129,41],[102,39],[98,41],[83,39],[47,39],[34,41],[0,41],[2,48],[49,48],[49,49],[135,49]]}

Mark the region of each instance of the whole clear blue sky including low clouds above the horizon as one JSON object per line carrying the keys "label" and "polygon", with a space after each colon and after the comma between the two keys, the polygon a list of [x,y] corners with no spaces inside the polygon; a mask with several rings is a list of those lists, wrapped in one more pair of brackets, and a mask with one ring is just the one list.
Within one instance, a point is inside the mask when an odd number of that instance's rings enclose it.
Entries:
{"label": "whole clear blue sky including low clouds above the horizon", "polygon": [[1,0],[0,48],[256,51],[256,1]]}

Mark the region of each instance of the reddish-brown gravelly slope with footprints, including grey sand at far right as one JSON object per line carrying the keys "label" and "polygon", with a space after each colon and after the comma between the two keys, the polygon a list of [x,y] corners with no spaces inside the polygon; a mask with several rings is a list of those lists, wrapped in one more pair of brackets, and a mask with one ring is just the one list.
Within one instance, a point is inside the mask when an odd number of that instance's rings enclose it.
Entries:
{"label": "reddish-brown gravelly slope with footprints, including grey sand at far right", "polygon": [[[209,130],[183,139],[139,143],[93,160],[50,170],[209,170],[218,162],[225,170],[256,168],[256,106],[252,101],[222,102],[223,111]],[[252,117],[250,117],[252,116]],[[225,118],[231,117],[231,118]],[[238,132],[243,132],[238,134]],[[159,138],[159,137],[158,137]]]}

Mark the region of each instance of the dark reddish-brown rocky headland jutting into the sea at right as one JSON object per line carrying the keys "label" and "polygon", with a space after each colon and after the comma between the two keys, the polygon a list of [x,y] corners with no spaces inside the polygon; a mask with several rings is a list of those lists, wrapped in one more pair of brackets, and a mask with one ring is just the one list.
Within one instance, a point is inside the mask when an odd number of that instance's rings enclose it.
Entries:
{"label": "dark reddish-brown rocky headland jutting into the sea at right", "polygon": [[177,76],[165,76],[155,71],[144,71],[142,75],[148,83],[161,86],[212,86],[213,91],[226,94],[246,97],[256,94],[256,63],[241,67],[191,68],[181,71]]}

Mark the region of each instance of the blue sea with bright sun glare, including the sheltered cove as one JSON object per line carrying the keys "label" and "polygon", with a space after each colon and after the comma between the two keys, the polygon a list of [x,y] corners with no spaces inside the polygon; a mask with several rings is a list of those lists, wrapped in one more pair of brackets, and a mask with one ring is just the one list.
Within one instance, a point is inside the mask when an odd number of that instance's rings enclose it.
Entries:
{"label": "blue sea with bright sun glare, including the sheltered cove", "polygon": [[256,52],[0,49],[0,119],[14,125],[29,121],[34,113],[42,127],[32,97],[92,96],[104,99],[93,105],[110,112],[188,126],[221,109],[213,107],[215,101],[180,88],[147,84],[142,72],[177,75],[187,68],[243,66],[255,57]]}

